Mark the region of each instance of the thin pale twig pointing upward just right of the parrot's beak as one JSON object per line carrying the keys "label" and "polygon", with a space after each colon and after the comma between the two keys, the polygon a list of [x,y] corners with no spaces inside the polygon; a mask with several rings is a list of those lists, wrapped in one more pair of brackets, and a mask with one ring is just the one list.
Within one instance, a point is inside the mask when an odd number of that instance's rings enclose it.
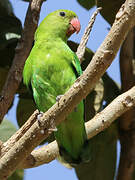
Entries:
{"label": "thin pale twig pointing upward just right of the parrot's beak", "polygon": [[88,26],[86,27],[84,34],[82,36],[81,42],[77,48],[76,55],[78,56],[80,63],[82,63],[82,61],[83,61],[83,56],[85,53],[86,44],[88,42],[89,35],[90,35],[91,30],[92,30],[93,24],[96,20],[96,16],[98,15],[98,13],[101,9],[102,9],[101,7],[97,8],[96,11],[91,16],[90,21],[88,23]]}

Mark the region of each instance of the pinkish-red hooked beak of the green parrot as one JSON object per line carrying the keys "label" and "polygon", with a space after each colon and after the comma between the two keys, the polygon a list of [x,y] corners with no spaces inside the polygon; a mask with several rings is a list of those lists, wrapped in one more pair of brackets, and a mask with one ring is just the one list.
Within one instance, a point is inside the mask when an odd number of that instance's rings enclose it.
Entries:
{"label": "pinkish-red hooked beak of the green parrot", "polygon": [[81,29],[81,25],[79,19],[76,17],[71,19],[70,26],[67,30],[67,36],[68,37],[71,36],[74,32],[79,33],[80,29]]}

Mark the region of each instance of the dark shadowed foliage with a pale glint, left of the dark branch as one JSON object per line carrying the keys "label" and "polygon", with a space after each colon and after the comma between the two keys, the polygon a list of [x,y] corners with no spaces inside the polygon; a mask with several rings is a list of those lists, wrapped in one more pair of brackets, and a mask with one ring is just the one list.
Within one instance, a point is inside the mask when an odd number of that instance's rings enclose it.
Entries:
{"label": "dark shadowed foliage with a pale glint, left of the dark branch", "polygon": [[0,91],[12,64],[21,31],[21,22],[14,16],[9,1],[0,1]]}

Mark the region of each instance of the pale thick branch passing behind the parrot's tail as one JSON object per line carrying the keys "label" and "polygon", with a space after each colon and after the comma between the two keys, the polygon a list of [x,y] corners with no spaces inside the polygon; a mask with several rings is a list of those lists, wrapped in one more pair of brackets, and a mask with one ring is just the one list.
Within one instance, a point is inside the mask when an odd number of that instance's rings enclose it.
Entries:
{"label": "pale thick branch passing behind the parrot's tail", "polygon": [[[123,113],[135,106],[135,86],[129,91],[118,96],[103,111],[96,114],[94,118],[85,123],[88,139],[94,137],[108,128],[111,123]],[[56,141],[32,151],[19,168],[33,168],[49,163],[59,156],[59,148]]]}

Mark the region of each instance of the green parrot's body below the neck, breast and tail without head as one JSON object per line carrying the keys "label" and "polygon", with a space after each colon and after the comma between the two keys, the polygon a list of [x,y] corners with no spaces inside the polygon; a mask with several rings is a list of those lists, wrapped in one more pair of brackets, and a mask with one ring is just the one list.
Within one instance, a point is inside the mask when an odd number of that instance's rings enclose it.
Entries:
{"label": "green parrot's body below the neck, breast and tail without head", "polygon": [[[46,112],[56,103],[57,96],[64,95],[75,82],[81,68],[79,60],[76,59],[76,64],[74,58],[74,52],[62,41],[36,42],[25,65],[25,69],[29,70],[25,70],[24,74],[25,81],[31,83],[34,100],[40,111]],[[83,101],[57,129],[55,137],[64,159],[68,162],[81,159],[80,154],[87,139]]]}

